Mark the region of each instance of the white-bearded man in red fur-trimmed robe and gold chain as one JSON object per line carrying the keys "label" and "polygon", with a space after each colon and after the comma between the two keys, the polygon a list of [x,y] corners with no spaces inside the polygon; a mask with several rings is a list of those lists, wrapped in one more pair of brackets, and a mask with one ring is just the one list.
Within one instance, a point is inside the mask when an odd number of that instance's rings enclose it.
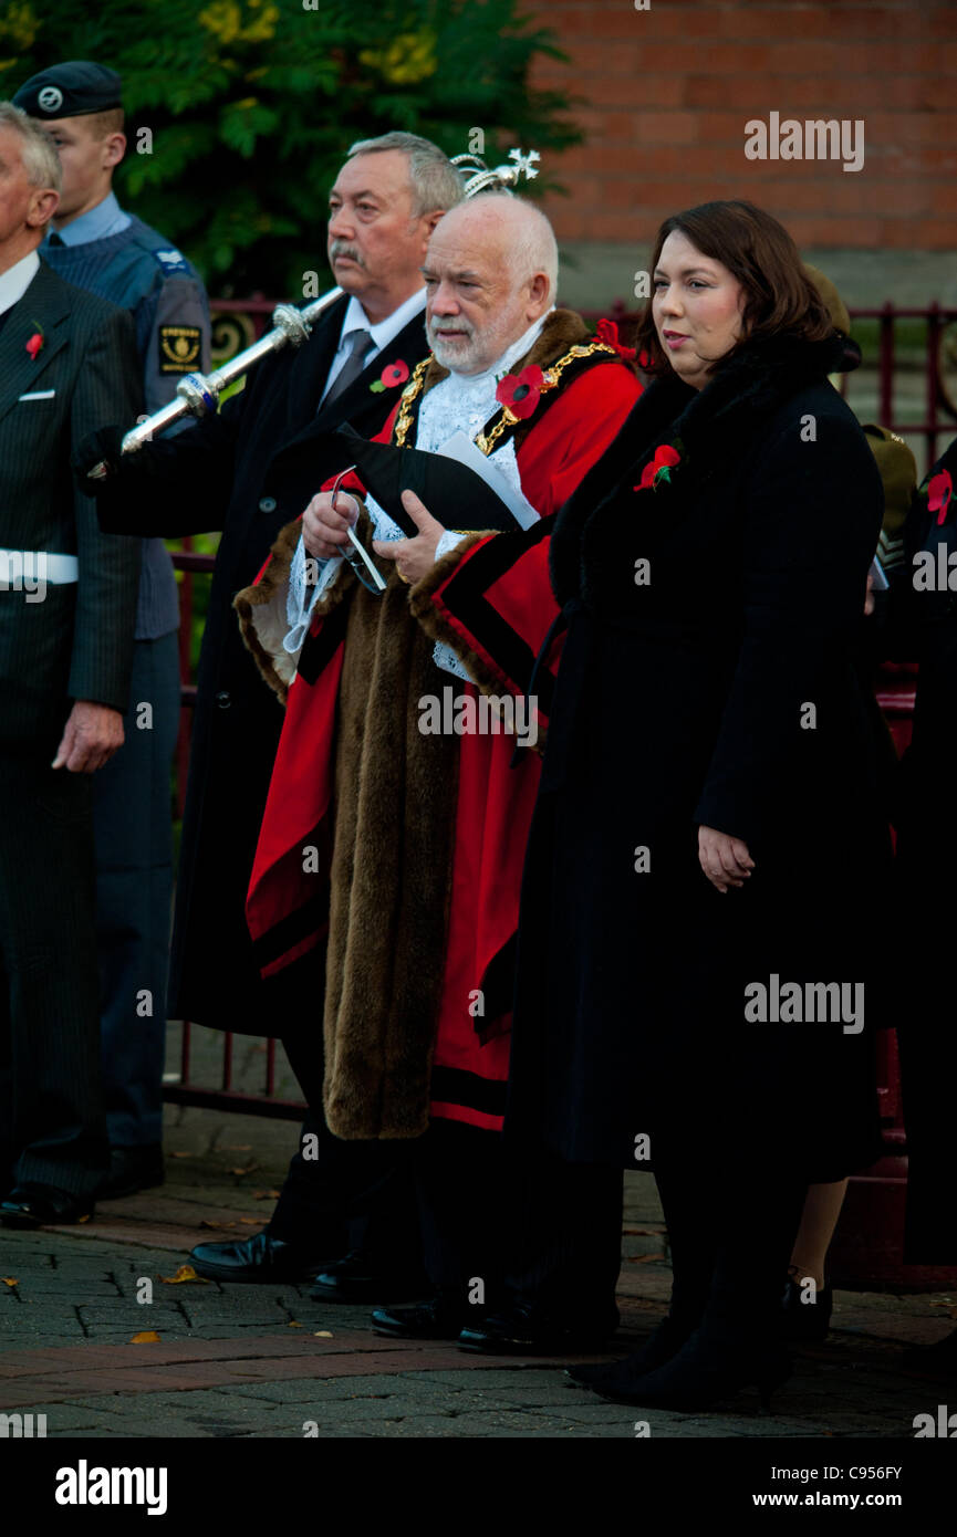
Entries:
{"label": "white-bearded man in red fur-trimmed robe and gold chain", "polygon": [[[548,278],[529,300],[528,278],[515,274],[512,260],[514,224],[529,218],[545,223],[519,200],[483,197],[455,211],[445,240],[435,234],[426,323],[435,352],[452,366],[432,357],[414,370],[380,440],[432,450],[448,426],[466,432],[489,461],[508,467],[511,458],[532,518],[539,515],[537,559],[545,573],[554,513],[615,437],[640,386],[614,330],[592,338],[580,317],[551,307]],[[435,341],[443,317],[451,324],[449,315],[469,312],[468,300],[449,300],[465,247],[469,272],[482,280],[497,263],[512,300],[525,297],[511,335],[497,327],[506,346],[492,354],[491,366],[460,373],[454,346]],[[482,338],[494,324],[480,314],[472,335]],[[492,390],[488,413],[480,409],[483,381]],[[457,401],[462,415],[449,420]],[[429,512],[443,529],[455,526],[452,507]],[[369,509],[362,510],[358,529],[366,549],[383,532]],[[531,1153],[509,1156],[499,1137],[522,864],[548,698],[539,701],[540,713],[519,722],[520,730],[503,730],[500,713],[508,712],[489,710],[491,690],[474,681],[482,682],[480,658],[465,659],[468,678],[462,666],[458,673],[437,666],[437,610],[423,601],[425,587],[452,572],[485,536],[465,535],[411,586],[406,563],[386,558],[377,544],[382,593],[342,564],[332,581],[320,584],[298,655],[285,642],[300,524],[283,530],[260,581],[237,596],[246,642],[286,699],[248,919],[263,974],[325,945],[325,1001],[312,1007],[323,1008],[329,1128],[342,1137],[422,1137],[426,1263],[437,1294],[425,1310],[380,1310],[377,1326],[455,1337],[475,1319],[474,1303],[499,1305],[505,1290],[509,1305],[519,1299],[534,1314],[525,1333],[512,1328],[528,1346],[557,1343],[569,1333],[562,1306],[548,1297],[552,1290],[568,1296],[571,1270],[559,1230],[575,1205],[568,1191],[563,1200],[555,1191],[555,1210],[531,1225],[542,1230],[532,1234],[526,1214],[519,1220],[515,1213],[525,1210],[520,1187],[526,1180],[542,1187],[542,1165]],[[512,539],[525,546],[528,533],[515,526],[514,535],[494,538],[508,586]],[[412,543],[395,544],[395,552],[402,556]],[[551,619],[543,589],[546,583],[529,583],[512,613],[511,644],[526,678]],[[603,1171],[603,1179],[605,1211],[617,1208],[620,1219],[617,1176],[609,1182]],[[463,1182],[475,1200],[466,1199]],[[500,1197],[503,1185],[514,1222]],[[549,1199],[537,1196],[539,1216]],[[589,1203],[585,1193],[580,1203]],[[460,1217],[454,1207],[465,1208]],[[614,1242],[617,1248],[617,1231]],[[522,1280],[500,1285],[505,1271]],[[609,1271],[611,1263],[589,1282],[603,1297],[591,1313],[592,1336],[612,1322],[617,1256],[611,1288]],[[483,1285],[468,1288],[466,1305],[463,1286],[474,1280]]]}

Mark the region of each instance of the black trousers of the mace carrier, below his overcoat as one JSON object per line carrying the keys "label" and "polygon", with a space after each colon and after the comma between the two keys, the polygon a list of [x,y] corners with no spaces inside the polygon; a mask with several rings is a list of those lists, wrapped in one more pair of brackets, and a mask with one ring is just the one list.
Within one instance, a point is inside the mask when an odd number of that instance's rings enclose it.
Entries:
{"label": "black trousers of the mace carrier, below his overcoat", "polygon": [[415,1144],[332,1136],[322,1110],[322,1025],[283,1036],[283,1047],[309,1111],[268,1231],[317,1257],[362,1250],[375,1271],[415,1277],[422,1271]]}

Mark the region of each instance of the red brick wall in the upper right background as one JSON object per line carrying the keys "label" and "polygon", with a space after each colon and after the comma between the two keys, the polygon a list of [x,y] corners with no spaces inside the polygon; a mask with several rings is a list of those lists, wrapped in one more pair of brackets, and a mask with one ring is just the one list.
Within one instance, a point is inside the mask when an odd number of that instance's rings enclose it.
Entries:
{"label": "red brick wall in the upper right background", "polygon": [[[954,0],[528,0],[568,65],[534,83],[577,95],[588,138],[549,157],[571,197],[563,243],[646,244],[666,215],[748,197],[803,247],[957,247]],[[865,166],[745,158],[745,123],[862,118]],[[528,148],[528,146],[526,146]]]}

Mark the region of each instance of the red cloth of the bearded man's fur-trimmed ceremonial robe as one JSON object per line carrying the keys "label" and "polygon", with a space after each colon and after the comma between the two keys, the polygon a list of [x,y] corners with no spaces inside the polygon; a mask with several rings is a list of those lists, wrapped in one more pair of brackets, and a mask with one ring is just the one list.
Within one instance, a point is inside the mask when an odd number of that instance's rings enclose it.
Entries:
{"label": "red cloth of the bearded man's fur-trimmed ceremonial robe", "polygon": [[[639,393],[634,373],[609,357],[608,363],[595,363],[568,383],[551,401],[545,397],[548,409],[540,410],[540,420],[532,420],[517,447],[523,493],[543,521],[528,532],[466,536],[458,550],[411,587],[409,609],[426,632],[452,642],[466,633],[465,626],[443,609],[442,593],[463,563],[463,550],[468,561],[475,549],[494,543],[502,573],[488,596],[506,618],[512,670],[523,673],[528,684],[534,658],[557,613],[548,581],[552,515],[615,437]],[[389,421],[378,441],[389,441],[391,427]],[[442,509],[429,510],[442,521]],[[522,553],[515,567],[509,552]],[[237,607],[243,612],[238,601]],[[263,976],[289,965],[328,933],[329,884],[323,879],[317,887],[315,864],[305,868],[303,850],[311,851],[328,873],[348,607],[343,601],[314,618],[288,693],[246,907]],[[474,644],[469,638],[469,649]],[[486,693],[503,693],[499,687],[499,681],[505,681],[503,670],[488,653],[466,656],[466,666]],[[438,699],[443,689],[454,684],[457,695],[465,692],[472,699],[469,709],[477,705],[474,686],[437,667],[432,672]],[[506,689],[512,687],[509,681]],[[542,707],[546,713],[546,698]],[[434,958],[435,965],[443,965],[443,974],[428,1113],[486,1130],[500,1130],[505,1111],[519,895],[539,776],[539,753],[515,753],[511,735],[475,732],[458,738],[445,951]],[[402,805],[394,807],[394,822],[397,828],[403,825]],[[386,924],[389,915],[383,913],[382,919]],[[378,1120],[378,1130],[349,1116],[337,1119],[328,1079],[326,1114],[331,1130],[340,1136],[409,1136],[425,1130],[422,1120],[406,1124],[403,1117],[389,1119],[388,1113]]]}

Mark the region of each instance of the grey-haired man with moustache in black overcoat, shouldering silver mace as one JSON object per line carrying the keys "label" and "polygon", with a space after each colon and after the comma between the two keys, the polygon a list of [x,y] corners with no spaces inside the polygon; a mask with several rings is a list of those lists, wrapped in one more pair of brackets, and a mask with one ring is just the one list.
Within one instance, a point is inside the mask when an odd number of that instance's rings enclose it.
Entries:
{"label": "grey-haired man with moustache in black overcoat, shouldering silver mace", "polygon": [[[328,433],[349,423],[374,437],[426,355],[420,266],[442,214],[460,201],[462,181],[435,144],[386,134],[352,144],[329,195],[328,255],[343,297],[297,350],[274,354],[240,395],[174,440],[120,460],[120,432],[100,433],[85,455],[106,456],[112,473],[91,483],[105,527],[177,536],[222,529],[192,729],[172,939],[171,1013],[251,1034],[278,1033],[311,1104],[322,1105],[322,1041],[314,988],[322,973],[305,961],[262,981],[252,958],[245,901],[282,710],[243,649],[232,598],[254,581],[280,529],[314,492],[349,464]],[[363,1243],[375,1205],[405,1207],[395,1177],[405,1153],[386,1144],[342,1144],[323,1122],[292,1160],[265,1234],[245,1243],[206,1243],[194,1265],[206,1276],[275,1280],[314,1274]],[[406,1227],[408,1223],[400,1223]],[[345,1270],[349,1299],[378,1296],[369,1248],[389,1256],[402,1233],[378,1227],[357,1266]],[[354,1290],[358,1286],[358,1293]],[[345,1296],[345,1291],[343,1291]]]}

